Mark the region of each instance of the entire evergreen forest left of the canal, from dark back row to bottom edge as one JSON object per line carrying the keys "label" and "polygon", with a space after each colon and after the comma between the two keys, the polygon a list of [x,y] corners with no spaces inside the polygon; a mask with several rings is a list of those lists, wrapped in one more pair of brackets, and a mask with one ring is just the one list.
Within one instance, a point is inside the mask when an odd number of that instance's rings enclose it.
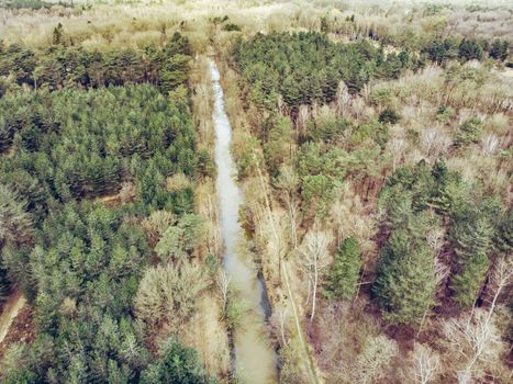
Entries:
{"label": "entire evergreen forest left of the canal, from dark back row to bottom edge", "polygon": [[[1,50],[2,75],[14,79],[0,99],[1,149],[11,154],[0,162],[2,217],[10,221],[2,292],[19,285],[38,329],[18,351],[23,368],[4,382],[175,375],[207,383],[194,352],[178,341],[150,358],[133,303],[152,255],[137,223],[159,210],[191,213],[191,187],[170,192],[166,178],[193,180],[210,161],[196,145],[187,39],[175,34],[163,48],[107,53],[56,39],[46,52]],[[120,190],[120,208],[91,201]]]}

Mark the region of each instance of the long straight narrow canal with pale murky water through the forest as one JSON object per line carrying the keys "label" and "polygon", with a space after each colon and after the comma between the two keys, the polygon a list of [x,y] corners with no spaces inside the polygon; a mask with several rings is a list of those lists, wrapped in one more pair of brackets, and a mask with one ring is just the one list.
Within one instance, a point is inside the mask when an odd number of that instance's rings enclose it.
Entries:
{"label": "long straight narrow canal with pale murky water through the forest", "polygon": [[215,129],[216,191],[220,204],[221,235],[224,241],[224,268],[232,284],[239,291],[242,303],[248,308],[234,331],[235,370],[244,383],[276,383],[276,353],[270,347],[265,326],[264,285],[250,260],[237,252],[242,236],[238,208],[242,191],[235,182],[235,165],[230,153],[232,127],[224,111],[224,94],[219,82],[220,72],[210,61],[214,91],[213,122]]}

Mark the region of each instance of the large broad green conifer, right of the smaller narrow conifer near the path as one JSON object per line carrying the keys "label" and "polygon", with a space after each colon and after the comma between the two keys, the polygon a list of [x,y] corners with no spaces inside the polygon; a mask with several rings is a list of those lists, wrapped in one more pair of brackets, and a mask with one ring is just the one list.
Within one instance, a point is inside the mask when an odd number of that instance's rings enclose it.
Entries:
{"label": "large broad green conifer, right of the smaller narrow conifer near the path", "polygon": [[372,293],[392,323],[417,323],[434,305],[433,253],[425,239],[406,229],[392,231],[381,249]]}

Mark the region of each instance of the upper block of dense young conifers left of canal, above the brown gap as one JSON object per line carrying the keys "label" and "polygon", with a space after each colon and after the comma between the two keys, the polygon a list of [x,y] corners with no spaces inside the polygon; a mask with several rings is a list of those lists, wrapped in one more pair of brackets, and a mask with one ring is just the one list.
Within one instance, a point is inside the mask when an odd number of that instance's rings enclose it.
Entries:
{"label": "upper block of dense young conifers left of canal, above the brown gap", "polygon": [[153,86],[8,95],[0,110],[4,132],[19,138],[15,155],[0,162],[0,179],[30,211],[44,211],[53,199],[116,193],[124,179],[135,179],[145,204],[172,208],[178,197],[165,191],[165,178],[196,171],[188,109]]}

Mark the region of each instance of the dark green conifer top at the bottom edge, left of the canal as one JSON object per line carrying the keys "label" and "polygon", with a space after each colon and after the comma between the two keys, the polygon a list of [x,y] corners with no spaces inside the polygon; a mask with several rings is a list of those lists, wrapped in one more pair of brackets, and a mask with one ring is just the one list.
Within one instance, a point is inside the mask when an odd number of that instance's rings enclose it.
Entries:
{"label": "dark green conifer top at the bottom edge, left of the canal", "polygon": [[158,360],[142,372],[141,383],[214,384],[216,381],[203,372],[193,349],[171,337],[160,346]]}

